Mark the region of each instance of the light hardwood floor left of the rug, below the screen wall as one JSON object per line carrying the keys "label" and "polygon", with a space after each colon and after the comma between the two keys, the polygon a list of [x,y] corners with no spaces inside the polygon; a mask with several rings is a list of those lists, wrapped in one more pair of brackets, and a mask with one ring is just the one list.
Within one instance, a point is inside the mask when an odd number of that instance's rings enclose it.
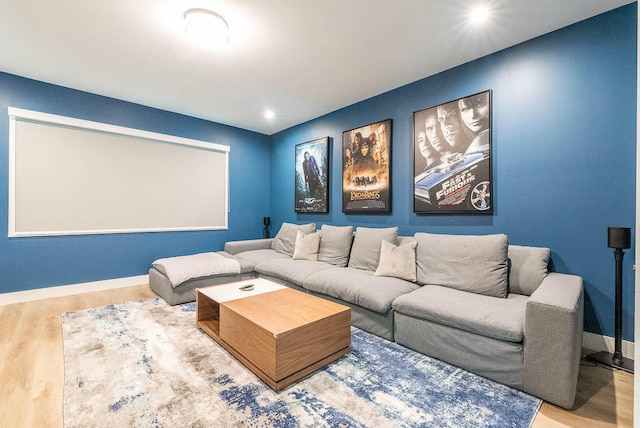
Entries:
{"label": "light hardwood floor left of the rug, below the screen wall", "polygon": [[141,285],[0,306],[0,427],[63,426],[63,312],[153,296]]}

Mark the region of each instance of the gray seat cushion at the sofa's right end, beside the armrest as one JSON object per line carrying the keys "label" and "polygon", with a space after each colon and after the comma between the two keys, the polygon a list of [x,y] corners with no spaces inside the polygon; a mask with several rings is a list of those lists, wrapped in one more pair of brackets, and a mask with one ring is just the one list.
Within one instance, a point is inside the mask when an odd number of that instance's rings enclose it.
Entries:
{"label": "gray seat cushion at the sofa's right end, beside the armrest", "polygon": [[480,336],[522,342],[524,312],[528,298],[510,294],[501,299],[448,287],[425,285],[398,297],[398,313],[447,325]]}

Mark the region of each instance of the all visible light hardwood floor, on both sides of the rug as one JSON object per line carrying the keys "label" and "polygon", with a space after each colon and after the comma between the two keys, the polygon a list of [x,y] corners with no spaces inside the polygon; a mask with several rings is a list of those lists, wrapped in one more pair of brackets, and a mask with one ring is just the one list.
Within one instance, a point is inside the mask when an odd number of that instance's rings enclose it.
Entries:
{"label": "all visible light hardwood floor, on both sides of the rug", "polygon": [[[0,306],[0,427],[62,427],[60,314],[140,300],[148,285]],[[195,322],[195,320],[194,320]],[[543,403],[533,427],[632,427],[633,375],[583,361],[571,411]]]}

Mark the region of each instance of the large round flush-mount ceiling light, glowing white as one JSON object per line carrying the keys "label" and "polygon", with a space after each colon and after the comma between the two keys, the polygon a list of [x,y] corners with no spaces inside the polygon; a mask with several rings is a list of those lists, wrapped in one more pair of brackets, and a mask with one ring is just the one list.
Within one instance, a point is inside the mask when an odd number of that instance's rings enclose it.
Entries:
{"label": "large round flush-mount ceiling light, glowing white", "polygon": [[194,42],[208,47],[223,46],[229,40],[227,21],[207,9],[189,9],[184,13],[184,30]]}

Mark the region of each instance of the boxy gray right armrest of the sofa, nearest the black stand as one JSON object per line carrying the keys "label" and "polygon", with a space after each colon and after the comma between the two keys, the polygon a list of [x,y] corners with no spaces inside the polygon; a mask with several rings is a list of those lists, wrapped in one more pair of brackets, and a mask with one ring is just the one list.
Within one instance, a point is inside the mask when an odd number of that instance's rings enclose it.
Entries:
{"label": "boxy gray right armrest of the sofa, nearest the black stand", "polygon": [[550,273],[527,301],[524,390],[566,409],[573,407],[582,355],[582,278]]}

